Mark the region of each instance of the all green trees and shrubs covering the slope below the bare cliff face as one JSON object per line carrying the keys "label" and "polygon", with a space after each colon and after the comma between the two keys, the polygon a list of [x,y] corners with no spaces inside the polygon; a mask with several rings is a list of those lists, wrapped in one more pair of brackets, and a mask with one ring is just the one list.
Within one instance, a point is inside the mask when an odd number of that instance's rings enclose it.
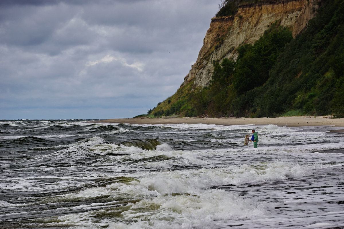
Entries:
{"label": "all green trees and shrubs covering the slope below the bare cliff face", "polygon": [[190,82],[148,113],[344,117],[343,40],[344,0],[322,1],[316,17],[296,38],[289,28],[271,25],[253,45],[238,48],[236,61],[214,61],[208,87],[192,88]]}

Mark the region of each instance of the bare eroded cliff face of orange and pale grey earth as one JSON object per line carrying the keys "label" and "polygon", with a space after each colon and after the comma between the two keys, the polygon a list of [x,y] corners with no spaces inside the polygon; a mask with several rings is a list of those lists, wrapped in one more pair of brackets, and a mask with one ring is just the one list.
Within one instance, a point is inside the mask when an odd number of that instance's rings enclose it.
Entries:
{"label": "bare eroded cliff face of orange and pale grey earth", "polygon": [[194,80],[196,87],[209,84],[213,60],[236,59],[241,44],[253,44],[276,22],[292,27],[293,36],[300,33],[316,12],[319,0],[267,0],[239,6],[234,16],[213,18],[205,35],[196,63],[181,87]]}

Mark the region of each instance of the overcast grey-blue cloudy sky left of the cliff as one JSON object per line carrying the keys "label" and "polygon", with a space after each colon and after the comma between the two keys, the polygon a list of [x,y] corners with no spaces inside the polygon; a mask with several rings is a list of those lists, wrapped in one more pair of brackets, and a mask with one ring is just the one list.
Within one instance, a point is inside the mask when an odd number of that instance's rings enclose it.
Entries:
{"label": "overcast grey-blue cloudy sky left of the cliff", "polygon": [[127,118],[172,95],[219,0],[1,0],[0,119]]}

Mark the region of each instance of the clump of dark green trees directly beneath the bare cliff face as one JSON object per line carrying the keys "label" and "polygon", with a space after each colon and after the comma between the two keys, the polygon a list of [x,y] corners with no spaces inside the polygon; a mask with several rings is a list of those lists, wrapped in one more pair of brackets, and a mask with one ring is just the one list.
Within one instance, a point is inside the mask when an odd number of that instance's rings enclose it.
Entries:
{"label": "clump of dark green trees directly beneath the bare cliff face", "polygon": [[241,46],[236,62],[226,58],[221,64],[214,61],[211,85],[191,93],[196,115],[248,115],[249,106],[257,98],[252,90],[260,88],[268,80],[271,67],[292,39],[288,28],[276,24],[270,26],[253,45]]}

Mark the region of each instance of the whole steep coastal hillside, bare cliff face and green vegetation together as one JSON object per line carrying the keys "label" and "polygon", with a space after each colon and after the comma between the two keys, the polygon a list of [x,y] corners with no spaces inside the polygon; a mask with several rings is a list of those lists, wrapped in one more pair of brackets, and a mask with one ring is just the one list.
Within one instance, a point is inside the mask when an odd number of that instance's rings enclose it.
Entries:
{"label": "whole steep coastal hillside, bare cliff face and green vegetation together", "polygon": [[154,116],[344,116],[344,0],[227,0]]}

